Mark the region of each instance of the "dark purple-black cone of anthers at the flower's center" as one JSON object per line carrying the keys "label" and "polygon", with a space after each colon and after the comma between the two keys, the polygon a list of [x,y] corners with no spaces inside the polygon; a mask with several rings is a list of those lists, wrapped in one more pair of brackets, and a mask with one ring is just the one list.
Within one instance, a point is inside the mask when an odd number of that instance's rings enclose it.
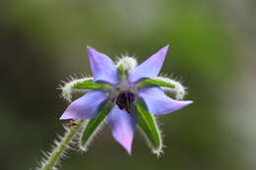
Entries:
{"label": "dark purple-black cone of anthers at the flower's center", "polygon": [[116,98],[116,104],[121,110],[131,113],[132,104],[136,95],[128,90],[121,92]]}

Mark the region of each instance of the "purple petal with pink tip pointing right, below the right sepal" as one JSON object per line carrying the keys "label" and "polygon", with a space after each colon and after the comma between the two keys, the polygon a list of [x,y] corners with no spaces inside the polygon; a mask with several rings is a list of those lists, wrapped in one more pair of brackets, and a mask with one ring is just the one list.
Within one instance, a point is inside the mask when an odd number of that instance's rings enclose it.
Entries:
{"label": "purple petal with pink tip pointing right, below the right sepal", "polygon": [[160,87],[142,88],[139,95],[146,102],[149,111],[156,115],[171,113],[193,102],[173,100],[165,95]]}

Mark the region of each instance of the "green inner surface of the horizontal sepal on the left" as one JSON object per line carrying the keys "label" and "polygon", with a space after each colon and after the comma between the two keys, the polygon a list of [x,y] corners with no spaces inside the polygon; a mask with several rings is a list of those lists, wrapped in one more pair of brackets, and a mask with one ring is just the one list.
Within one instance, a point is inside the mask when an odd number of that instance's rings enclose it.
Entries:
{"label": "green inner surface of the horizontal sepal on the left", "polygon": [[73,85],[75,89],[109,89],[110,85],[105,84],[97,84],[94,83],[94,80],[86,80],[83,82],[78,82],[77,84]]}

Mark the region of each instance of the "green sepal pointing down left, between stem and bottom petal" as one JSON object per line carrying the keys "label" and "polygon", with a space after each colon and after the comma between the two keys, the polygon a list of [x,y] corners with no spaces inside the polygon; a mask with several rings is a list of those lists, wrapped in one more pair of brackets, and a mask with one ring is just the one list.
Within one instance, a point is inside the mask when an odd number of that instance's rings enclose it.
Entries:
{"label": "green sepal pointing down left, between stem and bottom petal", "polygon": [[105,117],[107,116],[107,114],[109,113],[112,107],[113,107],[113,103],[111,101],[107,101],[100,108],[96,118],[93,118],[87,121],[79,141],[79,147],[82,150],[85,150],[85,151],[87,150],[89,143],[92,141],[92,139],[96,135],[96,132],[98,132],[98,130],[100,129],[101,125],[104,122]]}

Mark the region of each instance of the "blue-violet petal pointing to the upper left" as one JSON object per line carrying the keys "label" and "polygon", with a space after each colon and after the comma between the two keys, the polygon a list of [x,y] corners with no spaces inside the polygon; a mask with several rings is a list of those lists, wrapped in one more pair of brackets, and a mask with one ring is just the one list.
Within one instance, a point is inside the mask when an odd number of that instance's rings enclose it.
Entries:
{"label": "blue-violet petal pointing to the upper left", "polygon": [[118,82],[117,68],[105,54],[88,46],[88,55],[95,82],[116,84]]}

